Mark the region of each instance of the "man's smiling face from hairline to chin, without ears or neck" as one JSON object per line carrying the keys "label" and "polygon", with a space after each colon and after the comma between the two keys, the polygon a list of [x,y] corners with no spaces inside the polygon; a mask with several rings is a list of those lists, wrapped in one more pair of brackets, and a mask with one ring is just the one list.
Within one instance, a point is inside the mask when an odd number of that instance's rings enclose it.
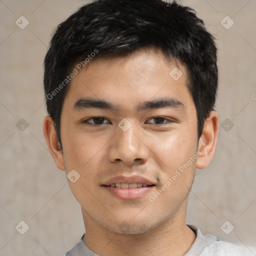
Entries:
{"label": "man's smiling face from hairline to chin, without ears or neck", "polygon": [[185,214],[197,119],[185,68],[178,65],[177,80],[175,69],[169,74],[176,66],[161,52],[139,50],[95,57],[71,80],[61,142],[67,174],[80,175],[68,182],[85,218],[142,233]]}

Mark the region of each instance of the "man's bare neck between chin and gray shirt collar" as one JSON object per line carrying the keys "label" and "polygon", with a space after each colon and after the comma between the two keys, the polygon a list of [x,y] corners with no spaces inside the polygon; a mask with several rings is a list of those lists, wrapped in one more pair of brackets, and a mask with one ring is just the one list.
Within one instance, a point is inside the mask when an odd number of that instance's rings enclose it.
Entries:
{"label": "man's bare neck between chin and gray shirt collar", "polygon": [[101,256],[181,256],[191,247],[195,233],[186,225],[186,202],[179,211],[183,214],[177,212],[150,231],[122,234],[103,227],[82,208],[86,229],[83,242]]}

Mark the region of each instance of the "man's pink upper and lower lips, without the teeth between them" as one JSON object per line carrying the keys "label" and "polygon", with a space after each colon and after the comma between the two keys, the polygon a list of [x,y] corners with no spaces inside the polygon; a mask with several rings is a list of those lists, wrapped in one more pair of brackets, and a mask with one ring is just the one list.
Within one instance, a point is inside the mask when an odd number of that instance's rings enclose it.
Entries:
{"label": "man's pink upper and lower lips, without the teeth between them", "polygon": [[150,180],[139,176],[139,175],[132,175],[132,176],[116,176],[108,179],[102,186],[108,192],[110,192],[113,196],[123,199],[123,200],[135,200],[143,197],[146,195],[153,186],[142,186],[137,188],[118,188],[118,187],[110,187],[111,183],[144,183],[147,185],[154,185],[153,182]]}

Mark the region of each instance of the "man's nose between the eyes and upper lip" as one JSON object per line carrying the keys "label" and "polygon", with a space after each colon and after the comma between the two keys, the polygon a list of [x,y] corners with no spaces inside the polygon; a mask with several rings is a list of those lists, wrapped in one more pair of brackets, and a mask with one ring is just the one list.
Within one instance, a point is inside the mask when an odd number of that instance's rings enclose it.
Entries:
{"label": "man's nose between the eyes and upper lip", "polygon": [[[140,135],[139,135],[140,134]],[[149,149],[143,141],[141,132],[134,125],[123,131],[116,127],[116,135],[110,143],[108,158],[111,162],[123,161],[127,165],[145,163]]]}

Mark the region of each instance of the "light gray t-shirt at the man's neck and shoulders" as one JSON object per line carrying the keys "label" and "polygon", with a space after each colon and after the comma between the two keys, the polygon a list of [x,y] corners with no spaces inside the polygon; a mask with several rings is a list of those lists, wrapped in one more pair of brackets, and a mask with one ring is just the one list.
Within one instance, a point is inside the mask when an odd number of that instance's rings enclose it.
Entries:
{"label": "light gray t-shirt at the man's neck and shoulders", "polygon": [[[236,245],[230,242],[220,241],[213,234],[202,234],[195,225],[187,224],[196,234],[196,238],[184,256],[252,256],[255,255],[245,245]],[[84,234],[83,234],[84,236]],[[65,256],[98,256],[83,242],[82,238]],[[110,256],[110,255],[109,255]]]}

